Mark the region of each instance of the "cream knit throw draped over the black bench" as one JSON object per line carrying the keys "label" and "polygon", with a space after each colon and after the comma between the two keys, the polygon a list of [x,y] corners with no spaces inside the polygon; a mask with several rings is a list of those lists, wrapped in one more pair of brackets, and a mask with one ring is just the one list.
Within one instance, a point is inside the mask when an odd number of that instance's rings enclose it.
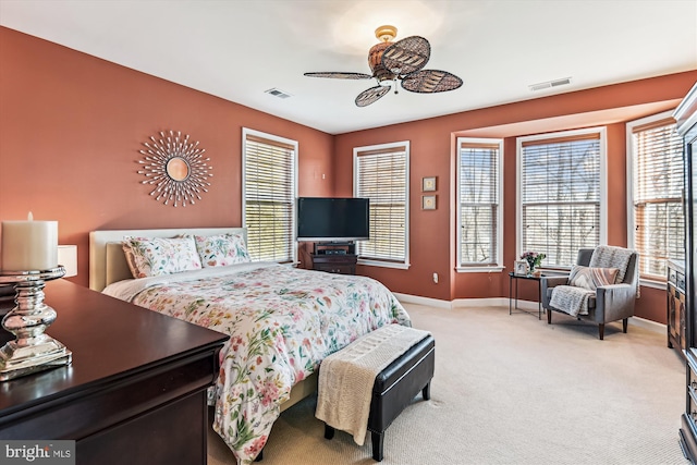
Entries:
{"label": "cream knit throw draped over the black bench", "polygon": [[319,367],[315,416],[353,435],[356,444],[363,445],[375,378],[428,334],[428,331],[388,325],[325,358]]}

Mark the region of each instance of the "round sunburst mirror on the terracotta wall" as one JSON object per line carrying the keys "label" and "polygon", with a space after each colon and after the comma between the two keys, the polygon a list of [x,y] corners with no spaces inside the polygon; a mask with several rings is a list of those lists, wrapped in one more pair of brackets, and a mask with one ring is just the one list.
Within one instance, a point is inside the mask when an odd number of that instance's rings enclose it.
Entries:
{"label": "round sunburst mirror on the terracotta wall", "polygon": [[210,158],[204,158],[206,151],[198,147],[198,142],[191,143],[188,135],[182,138],[181,132],[160,132],[160,138],[150,136],[150,142],[143,143],[146,150],[138,150],[145,155],[145,160],[138,160],[146,180],[142,184],[155,186],[150,195],[164,205],[174,207],[187,204],[194,205],[195,199],[200,200],[200,195],[208,192],[210,186],[208,171],[212,167],[208,164]]}

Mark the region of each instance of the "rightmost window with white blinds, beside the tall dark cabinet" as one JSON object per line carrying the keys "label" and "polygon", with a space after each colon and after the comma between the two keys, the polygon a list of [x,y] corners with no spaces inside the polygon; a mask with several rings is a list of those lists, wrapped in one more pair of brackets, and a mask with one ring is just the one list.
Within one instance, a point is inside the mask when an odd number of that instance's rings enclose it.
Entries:
{"label": "rightmost window with white blinds, beside the tall dark cabinet", "polygon": [[665,280],[667,259],[685,258],[683,144],[670,112],[627,123],[632,182],[631,247],[639,253],[639,276]]}

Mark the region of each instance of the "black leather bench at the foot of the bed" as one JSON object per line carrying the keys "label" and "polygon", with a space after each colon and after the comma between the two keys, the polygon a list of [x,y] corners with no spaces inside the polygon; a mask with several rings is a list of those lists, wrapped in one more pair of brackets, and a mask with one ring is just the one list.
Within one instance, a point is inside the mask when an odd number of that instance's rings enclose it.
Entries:
{"label": "black leather bench at the foot of the bed", "polygon": [[[430,386],[436,366],[436,341],[428,334],[388,365],[376,377],[370,400],[368,430],[372,440],[372,458],[382,461],[384,430],[421,391],[430,399]],[[325,438],[332,439],[334,428],[325,424]]]}

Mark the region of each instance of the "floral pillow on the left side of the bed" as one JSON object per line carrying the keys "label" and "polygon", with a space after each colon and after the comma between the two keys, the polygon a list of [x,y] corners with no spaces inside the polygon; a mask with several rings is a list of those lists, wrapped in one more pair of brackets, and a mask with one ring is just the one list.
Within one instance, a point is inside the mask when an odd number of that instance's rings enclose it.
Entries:
{"label": "floral pillow on the left side of the bed", "polygon": [[123,238],[123,252],[133,278],[158,277],[200,270],[193,237]]}

